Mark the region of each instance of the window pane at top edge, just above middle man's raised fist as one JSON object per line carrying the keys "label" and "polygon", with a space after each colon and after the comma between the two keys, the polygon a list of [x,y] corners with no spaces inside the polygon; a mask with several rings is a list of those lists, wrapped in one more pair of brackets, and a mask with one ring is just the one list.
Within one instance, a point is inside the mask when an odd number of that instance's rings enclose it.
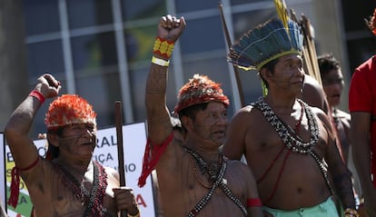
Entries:
{"label": "window pane at top edge, just above middle man's raised fist", "polygon": [[125,21],[159,17],[166,14],[166,5],[164,0],[123,0],[122,12]]}

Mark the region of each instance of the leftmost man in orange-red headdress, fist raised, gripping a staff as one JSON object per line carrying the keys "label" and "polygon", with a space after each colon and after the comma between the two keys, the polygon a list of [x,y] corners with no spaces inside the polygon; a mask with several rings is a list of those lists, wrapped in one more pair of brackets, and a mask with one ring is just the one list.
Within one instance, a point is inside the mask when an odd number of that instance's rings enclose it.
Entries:
{"label": "leftmost man in orange-red headdress, fist raised, gripping a staff", "polygon": [[[60,91],[51,74],[40,76],[5,126],[5,138],[15,159],[12,172],[21,174],[36,216],[118,216],[120,211],[139,216],[134,193],[119,186],[119,175],[92,161],[96,145],[96,113],[91,104],[64,94],[50,104],[45,115],[47,157],[41,158],[27,136],[35,113],[45,98]],[[9,203],[17,204],[18,186],[12,182]]]}

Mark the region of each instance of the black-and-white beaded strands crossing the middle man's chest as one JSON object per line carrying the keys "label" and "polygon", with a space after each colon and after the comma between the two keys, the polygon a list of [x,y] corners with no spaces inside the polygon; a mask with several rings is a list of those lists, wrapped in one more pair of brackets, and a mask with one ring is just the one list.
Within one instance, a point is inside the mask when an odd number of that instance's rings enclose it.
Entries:
{"label": "black-and-white beaded strands crossing the middle man's chest", "polygon": [[210,169],[210,166],[208,163],[203,160],[203,157],[201,157],[198,153],[193,152],[192,149],[189,149],[185,146],[183,146],[183,149],[191,153],[193,156],[195,162],[197,165],[200,167],[202,171],[206,171],[209,174],[210,180],[213,182],[213,186],[210,188],[209,192],[206,193],[205,196],[195,205],[193,210],[188,213],[187,217],[193,217],[195,216],[198,212],[200,212],[203,209],[203,206],[209,202],[209,200],[212,198],[213,193],[217,187],[220,187],[223,192],[227,195],[230,200],[235,202],[235,204],[242,210],[242,213],[244,216],[248,216],[248,211],[245,208],[245,206],[242,204],[242,202],[237,198],[233,192],[229,189],[229,187],[226,184],[226,181],[223,179],[224,172],[226,171],[227,168],[227,158],[224,157],[223,153],[220,153],[220,161],[221,164],[221,169],[219,172],[214,172],[213,170]]}

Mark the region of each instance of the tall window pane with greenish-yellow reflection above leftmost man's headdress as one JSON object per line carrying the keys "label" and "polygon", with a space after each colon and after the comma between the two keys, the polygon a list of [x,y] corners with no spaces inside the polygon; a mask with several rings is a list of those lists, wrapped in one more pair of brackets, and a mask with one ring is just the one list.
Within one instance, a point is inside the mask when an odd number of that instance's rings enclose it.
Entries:
{"label": "tall window pane with greenish-yellow reflection above leftmost man's headdress", "polygon": [[114,102],[121,99],[114,33],[72,38],[77,94],[93,104],[98,127],[114,125]]}

